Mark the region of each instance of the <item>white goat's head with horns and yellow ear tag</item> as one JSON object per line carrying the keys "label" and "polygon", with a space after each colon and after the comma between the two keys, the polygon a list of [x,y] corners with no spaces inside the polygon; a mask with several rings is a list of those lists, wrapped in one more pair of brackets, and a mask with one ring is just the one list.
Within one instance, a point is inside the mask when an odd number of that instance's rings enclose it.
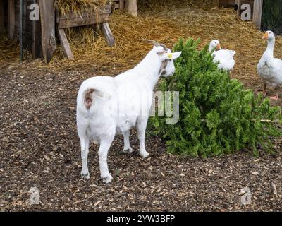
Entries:
{"label": "white goat's head with horns and yellow ear tag", "polygon": [[182,52],[171,52],[171,49],[168,49],[164,44],[153,40],[145,40],[151,44],[154,44],[153,52],[157,54],[161,60],[161,67],[159,69],[159,75],[168,77],[172,76],[176,71],[173,60],[180,57]]}

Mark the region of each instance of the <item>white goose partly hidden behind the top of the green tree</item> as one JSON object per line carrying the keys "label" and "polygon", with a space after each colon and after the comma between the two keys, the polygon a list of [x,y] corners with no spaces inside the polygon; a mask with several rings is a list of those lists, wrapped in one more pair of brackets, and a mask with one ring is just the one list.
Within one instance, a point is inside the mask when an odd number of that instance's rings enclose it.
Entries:
{"label": "white goose partly hidden behind the top of the green tree", "polygon": [[[216,49],[216,51],[214,51]],[[209,52],[212,52],[214,56],[214,63],[219,62],[219,69],[224,69],[231,71],[235,65],[235,60],[233,59],[235,51],[229,49],[221,49],[219,40],[212,40],[209,44]]]}

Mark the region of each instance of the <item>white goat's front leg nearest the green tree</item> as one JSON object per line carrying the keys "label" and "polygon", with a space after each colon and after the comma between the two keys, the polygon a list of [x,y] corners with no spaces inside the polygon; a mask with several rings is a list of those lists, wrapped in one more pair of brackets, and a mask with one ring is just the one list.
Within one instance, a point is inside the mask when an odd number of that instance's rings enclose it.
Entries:
{"label": "white goat's front leg nearest the green tree", "polygon": [[148,117],[139,117],[137,119],[137,133],[140,142],[140,155],[142,157],[149,157],[149,153],[147,153],[145,148],[145,132],[147,127]]}

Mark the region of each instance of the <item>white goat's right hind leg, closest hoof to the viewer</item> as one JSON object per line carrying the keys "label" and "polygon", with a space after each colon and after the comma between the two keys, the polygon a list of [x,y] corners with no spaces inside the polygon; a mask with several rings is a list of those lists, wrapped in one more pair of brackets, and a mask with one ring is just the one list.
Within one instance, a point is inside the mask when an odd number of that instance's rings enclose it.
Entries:
{"label": "white goat's right hind leg, closest hoof to the viewer", "polygon": [[99,147],[100,173],[103,182],[106,184],[111,183],[111,180],[113,179],[113,177],[111,177],[111,174],[109,173],[108,164],[107,164],[108,152],[113,140],[114,140],[114,136],[110,138],[103,138],[100,142],[100,147]]}

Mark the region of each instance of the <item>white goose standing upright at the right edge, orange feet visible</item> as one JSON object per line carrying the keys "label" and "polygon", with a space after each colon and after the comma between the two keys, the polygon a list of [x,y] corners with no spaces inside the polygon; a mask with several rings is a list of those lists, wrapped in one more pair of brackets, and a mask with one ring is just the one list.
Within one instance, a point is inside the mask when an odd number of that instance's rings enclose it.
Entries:
{"label": "white goose standing upright at the right edge, orange feet visible", "polygon": [[[282,60],[274,58],[274,32],[266,31],[263,38],[267,40],[267,48],[259,64],[257,64],[257,72],[264,81],[264,90],[262,92],[266,95],[266,85],[270,85],[274,89],[282,85]],[[278,98],[278,92],[276,91],[276,95],[271,97],[271,100],[278,100]]]}

